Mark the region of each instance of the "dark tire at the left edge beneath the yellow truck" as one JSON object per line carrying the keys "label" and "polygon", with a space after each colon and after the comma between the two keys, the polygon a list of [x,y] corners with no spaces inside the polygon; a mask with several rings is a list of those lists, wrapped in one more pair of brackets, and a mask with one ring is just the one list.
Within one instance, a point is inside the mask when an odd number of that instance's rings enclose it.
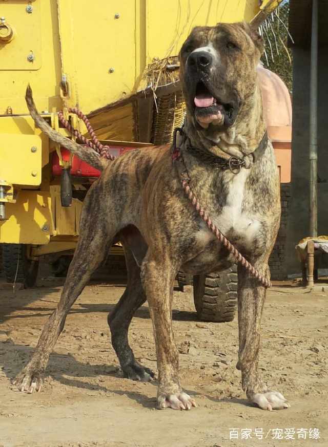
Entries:
{"label": "dark tire at the left edge beneath the yellow truck", "polygon": [[39,268],[38,261],[28,259],[27,249],[28,245],[25,244],[2,244],[2,262],[7,282],[22,283],[25,288],[35,285]]}

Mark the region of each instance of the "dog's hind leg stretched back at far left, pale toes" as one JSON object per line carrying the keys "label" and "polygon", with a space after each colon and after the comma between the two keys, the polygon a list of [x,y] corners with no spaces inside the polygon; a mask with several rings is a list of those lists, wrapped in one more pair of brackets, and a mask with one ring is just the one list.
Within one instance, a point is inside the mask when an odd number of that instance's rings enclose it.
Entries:
{"label": "dog's hind leg stretched back at far left, pale toes", "polygon": [[105,211],[101,208],[96,191],[93,188],[86,198],[80,220],[80,237],[57,308],[47,321],[28,365],[13,380],[20,391],[39,391],[49,355],[64,328],[69,309],[110,249],[116,233],[115,224],[110,228],[104,219]]}

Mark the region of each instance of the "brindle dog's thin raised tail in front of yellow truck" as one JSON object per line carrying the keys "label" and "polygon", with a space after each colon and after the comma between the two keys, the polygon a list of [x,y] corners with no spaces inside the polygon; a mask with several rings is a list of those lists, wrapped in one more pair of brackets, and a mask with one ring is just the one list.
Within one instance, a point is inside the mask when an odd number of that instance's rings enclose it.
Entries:
{"label": "brindle dog's thin raised tail in front of yellow truck", "polygon": [[48,137],[55,143],[60,144],[60,146],[66,147],[74,155],[77,155],[81,160],[86,161],[91,166],[103,171],[108,164],[108,160],[99,156],[99,154],[94,151],[91,147],[85,147],[80,144],[75,143],[75,141],[64,137],[50,127],[46,120],[44,120],[38,113],[33,100],[32,89],[30,84],[27,86],[25,99],[27,107],[32,118],[35,121],[37,127],[39,127]]}

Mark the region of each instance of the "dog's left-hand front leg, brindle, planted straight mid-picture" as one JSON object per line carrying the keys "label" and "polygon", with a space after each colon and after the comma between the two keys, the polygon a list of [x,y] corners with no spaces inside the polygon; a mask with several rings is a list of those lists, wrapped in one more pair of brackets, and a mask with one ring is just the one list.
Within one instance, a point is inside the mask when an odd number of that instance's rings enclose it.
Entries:
{"label": "dog's left-hand front leg, brindle, planted straight mid-picture", "polygon": [[184,393],[179,381],[179,356],[172,328],[172,299],[175,268],[170,260],[155,260],[149,253],[141,268],[153,322],[157,354],[157,408],[190,410],[194,399]]}

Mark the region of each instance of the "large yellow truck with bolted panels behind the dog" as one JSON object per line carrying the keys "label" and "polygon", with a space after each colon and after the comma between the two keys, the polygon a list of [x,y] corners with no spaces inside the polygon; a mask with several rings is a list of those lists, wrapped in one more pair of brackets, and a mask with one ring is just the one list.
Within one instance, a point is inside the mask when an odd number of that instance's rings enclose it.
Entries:
{"label": "large yellow truck with bolted panels behind the dog", "polygon": [[[42,116],[63,135],[71,137],[60,110],[88,137],[83,120],[69,113],[78,107],[114,155],[167,143],[183,120],[177,57],[183,40],[193,26],[250,21],[279,1],[261,9],[259,3],[0,0],[0,243],[7,281],[33,286],[40,257],[74,249],[83,198],[97,177],[36,129],[27,84]],[[231,300],[226,320],[235,293]]]}

